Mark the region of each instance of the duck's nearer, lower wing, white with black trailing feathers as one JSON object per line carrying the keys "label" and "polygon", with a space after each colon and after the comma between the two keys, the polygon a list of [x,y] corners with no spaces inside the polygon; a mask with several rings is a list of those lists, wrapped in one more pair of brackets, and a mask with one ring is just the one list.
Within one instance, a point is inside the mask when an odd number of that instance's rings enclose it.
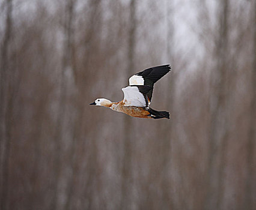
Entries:
{"label": "duck's nearer, lower wing, white with black trailing feathers", "polygon": [[152,88],[148,85],[127,86],[124,92],[124,106],[148,107],[147,93]]}

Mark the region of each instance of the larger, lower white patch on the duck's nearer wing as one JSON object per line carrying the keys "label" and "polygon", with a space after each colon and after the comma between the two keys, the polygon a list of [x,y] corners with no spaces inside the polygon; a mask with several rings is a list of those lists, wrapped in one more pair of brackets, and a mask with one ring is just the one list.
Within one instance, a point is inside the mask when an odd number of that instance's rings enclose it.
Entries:
{"label": "larger, lower white patch on the duck's nearer wing", "polygon": [[144,95],[141,92],[139,92],[138,87],[127,86],[126,88],[122,88],[122,91],[124,92],[124,106],[146,106]]}

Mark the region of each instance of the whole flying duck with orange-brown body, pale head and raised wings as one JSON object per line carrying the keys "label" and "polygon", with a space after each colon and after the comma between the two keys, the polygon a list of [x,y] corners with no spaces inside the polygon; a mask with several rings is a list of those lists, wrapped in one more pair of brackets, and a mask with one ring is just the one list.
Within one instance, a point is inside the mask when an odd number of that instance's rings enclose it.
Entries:
{"label": "whole flying duck with orange-brown body, pale head and raised wings", "polygon": [[152,98],[154,83],[165,76],[171,67],[160,65],[141,71],[129,79],[129,86],[122,88],[124,99],[119,102],[111,102],[105,98],[97,98],[90,105],[105,106],[117,112],[136,118],[168,118],[169,112],[156,111],[149,107]]}

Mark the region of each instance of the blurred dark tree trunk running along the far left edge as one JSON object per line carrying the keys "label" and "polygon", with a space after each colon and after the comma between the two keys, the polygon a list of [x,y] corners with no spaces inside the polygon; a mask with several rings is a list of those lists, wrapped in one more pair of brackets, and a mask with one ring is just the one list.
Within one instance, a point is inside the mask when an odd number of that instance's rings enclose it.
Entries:
{"label": "blurred dark tree trunk running along the far left edge", "polygon": [[1,158],[0,158],[0,208],[8,209],[8,193],[9,193],[9,156],[11,145],[11,124],[13,109],[13,94],[10,91],[10,60],[8,58],[8,49],[11,40],[12,28],[12,0],[6,0],[6,20],[5,34],[3,44],[1,46],[1,92],[0,92],[0,115],[1,115]]}

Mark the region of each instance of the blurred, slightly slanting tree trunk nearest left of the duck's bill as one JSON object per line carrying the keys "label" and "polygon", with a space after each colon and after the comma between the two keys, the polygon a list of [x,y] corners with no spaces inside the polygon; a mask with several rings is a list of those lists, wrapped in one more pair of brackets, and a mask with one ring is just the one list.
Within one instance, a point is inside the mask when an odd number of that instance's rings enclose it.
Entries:
{"label": "blurred, slightly slanting tree trunk nearest left of the duck's bill", "polygon": [[62,70],[61,70],[61,87],[60,87],[60,98],[59,98],[59,113],[56,121],[56,133],[55,133],[55,178],[54,178],[54,194],[52,209],[58,208],[58,195],[59,184],[61,178],[61,145],[62,145],[62,134],[63,125],[66,119],[66,102],[67,102],[67,82],[65,72],[72,68],[72,21],[73,21],[73,10],[74,0],[66,0],[65,14],[64,14],[64,54],[62,57]]}

